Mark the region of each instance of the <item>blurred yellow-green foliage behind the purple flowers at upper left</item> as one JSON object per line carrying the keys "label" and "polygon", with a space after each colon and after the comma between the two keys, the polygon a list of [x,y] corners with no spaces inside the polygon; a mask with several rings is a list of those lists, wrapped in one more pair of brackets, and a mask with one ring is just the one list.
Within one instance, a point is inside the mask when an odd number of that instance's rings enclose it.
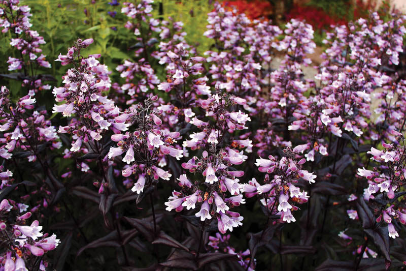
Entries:
{"label": "blurred yellow-green foliage behind the purple flowers at upper left", "polygon": [[[86,50],[85,54],[100,53],[101,62],[111,70],[112,80],[122,82],[119,73],[115,70],[124,59],[133,58],[133,49],[129,49],[138,41],[124,24],[130,19],[121,13],[120,5],[109,5],[110,0],[21,0],[21,5],[31,8],[32,29],[44,37],[47,44],[41,46],[46,59],[51,63],[51,69],[43,69],[44,73],[51,74],[57,79],[54,85],[61,84],[61,76],[66,67],[54,62],[60,53],[66,53],[78,38],[93,38],[95,43]],[[127,0],[127,2],[130,2]],[[209,0],[174,1],[155,0],[153,4],[153,17],[173,21],[183,21],[184,31],[187,33],[186,41],[197,46],[199,53],[208,50],[212,44],[202,34],[206,31],[207,13],[213,6]],[[116,12],[114,17],[109,14]],[[11,47],[11,34],[0,34],[0,57],[5,59],[0,66],[0,73],[10,73],[7,69],[6,59],[17,53]],[[3,37],[2,37],[3,36]],[[2,78],[2,84],[9,85],[13,93],[18,96],[21,83],[12,79]]]}

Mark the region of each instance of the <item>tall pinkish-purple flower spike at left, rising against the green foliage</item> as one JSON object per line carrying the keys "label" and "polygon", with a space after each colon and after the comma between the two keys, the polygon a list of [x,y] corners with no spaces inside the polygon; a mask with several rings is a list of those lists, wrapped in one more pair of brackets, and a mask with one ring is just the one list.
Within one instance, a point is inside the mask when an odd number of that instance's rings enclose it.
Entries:
{"label": "tall pinkish-purple flower spike at left, rising against the green foliage", "polygon": [[[59,54],[56,61],[63,66],[73,65],[62,77],[64,86],[55,87],[53,94],[56,102],[53,113],[60,112],[65,117],[75,114],[70,124],[59,126],[59,133],[72,134],[72,153],[92,152],[98,156],[99,166],[103,170],[103,160],[106,159],[107,149],[103,135],[112,130],[113,132],[126,131],[128,125],[117,123],[115,117],[120,113],[114,102],[103,95],[111,86],[110,72],[107,66],[102,65],[96,58],[100,54],[89,55],[85,58],[81,50],[93,43],[93,39],[82,41],[79,39],[74,46],[68,49],[66,55]],[[83,144],[83,145],[82,145]],[[69,153],[69,152],[67,152]],[[65,154],[67,154],[65,152]],[[101,156],[103,154],[103,157]],[[89,168],[82,162],[80,168]],[[104,175],[104,182],[107,181]]]}

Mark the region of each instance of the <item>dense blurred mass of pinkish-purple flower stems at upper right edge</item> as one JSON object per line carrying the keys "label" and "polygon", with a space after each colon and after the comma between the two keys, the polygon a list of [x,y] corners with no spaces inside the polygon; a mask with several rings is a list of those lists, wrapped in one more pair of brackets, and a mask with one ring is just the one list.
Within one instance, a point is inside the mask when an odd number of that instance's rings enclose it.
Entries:
{"label": "dense blurred mass of pinkish-purple flower stems at upper right edge", "polygon": [[[398,109],[403,107],[402,95],[399,101],[392,98],[396,92],[402,93],[402,80],[396,75],[388,76],[384,67],[399,63],[398,54],[403,51],[402,36],[406,33],[403,20],[403,16],[393,15],[390,21],[384,23],[377,13],[373,13],[367,20],[361,18],[350,23],[349,29],[336,27],[334,33],[327,34],[325,43],[329,48],[322,54],[326,61],[319,66],[320,72],[316,76],[320,80],[320,87],[317,87],[320,100],[330,104],[330,110],[324,114],[329,118],[340,115],[340,130],[358,137],[368,127],[370,132],[364,137],[374,140],[375,144],[388,137],[385,129],[376,124],[390,119],[392,129],[402,126],[401,111],[390,111],[393,106]],[[383,94],[387,94],[387,99],[383,99],[381,105],[374,109],[378,114],[374,124],[368,122],[371,98],[383,98],[379,91],[375,91],[377,87],[384,88]],[[335,106],[334,109],[333,103],[337,102],[340,107]]]}

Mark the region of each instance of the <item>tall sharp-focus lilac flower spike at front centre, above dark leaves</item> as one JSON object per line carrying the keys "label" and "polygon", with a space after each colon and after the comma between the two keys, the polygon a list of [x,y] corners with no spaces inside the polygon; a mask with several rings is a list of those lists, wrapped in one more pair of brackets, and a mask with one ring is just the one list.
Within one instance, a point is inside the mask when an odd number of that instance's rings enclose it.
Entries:
{"label": "tall sharp-focus lilac flower spike at front centre, above dark leaves", "polygon": [[[230,96],[220,89],[207,100],[200,100],[202,108],[207,110],[207,115],[214,121],[204,122],[194,117],[190,123],[200,132],[190,135],[190,140],[185,140],[183,146],[191,150],[203,150],[200,157],[192,157],[182,167],[194,173],[190,180],[186,174],[179,176],[181,191],[174,191],[169,201],[165,202],[166,210],[175,209],[181,212],[195,209],[200,204],[199,211],[193,211],[194,216],[200,220],[200,240],[197,253],[200,252],[202,236],[205,228],[211,224],[216,225],[221,233],[232,231],[234,227],[242,225],[243,217],[231,211],[235,206],[245,203],[240,193],[238,177],[244,175],[243,171],[231,168],[240,165],[247,156],[240,149],[247,148],[250,140],[233,139],[235,130],[246,129],[245,124],[251,119],[243,112],[228,111],[236,104],[245,104],[242,98]],[[241,136],[244,138],[244,135]],[[189,213],[189,212],[188,212]]]}

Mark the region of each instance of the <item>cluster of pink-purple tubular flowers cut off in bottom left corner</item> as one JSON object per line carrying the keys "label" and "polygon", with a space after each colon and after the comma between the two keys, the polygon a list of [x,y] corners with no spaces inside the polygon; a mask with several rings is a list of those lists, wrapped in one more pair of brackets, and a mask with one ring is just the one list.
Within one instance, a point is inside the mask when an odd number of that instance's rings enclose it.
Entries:
{"label": "cluster of pink-purple tubular flowers cut off in bottom left corner", "polygon": [[26,225],[31,217],[31,212],[26,212],[27,207],[13,200],[0,202],[0,268],[5,271],[45,270],[48,262],[43,255],[60,243],[55,234],[49,236],[41,232],[38,220]]}

